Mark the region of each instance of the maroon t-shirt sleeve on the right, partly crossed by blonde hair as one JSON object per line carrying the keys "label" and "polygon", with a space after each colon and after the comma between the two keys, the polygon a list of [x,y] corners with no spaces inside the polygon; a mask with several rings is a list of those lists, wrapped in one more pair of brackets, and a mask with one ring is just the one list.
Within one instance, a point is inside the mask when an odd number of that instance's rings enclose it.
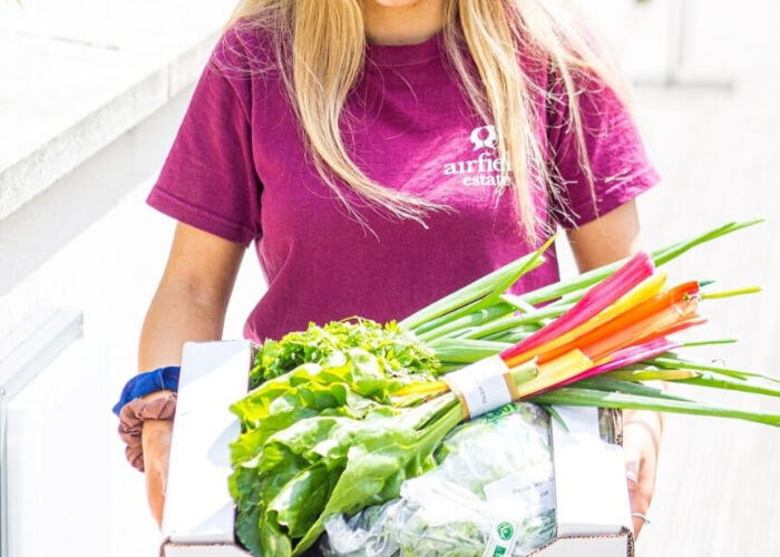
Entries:
{"label": "maroon t-shirt sleeve on the right, partly crossed by blonde hair", "polygon": [[[660,176],[647,157],[630,110],[608,87],[577,78],[584,152],[563,86],[553,82],[547,110],[547,137],[554,178],[552,209],[564,227],[584,225],[650,189]],[[589,179],[591,178],[591,179]]]}

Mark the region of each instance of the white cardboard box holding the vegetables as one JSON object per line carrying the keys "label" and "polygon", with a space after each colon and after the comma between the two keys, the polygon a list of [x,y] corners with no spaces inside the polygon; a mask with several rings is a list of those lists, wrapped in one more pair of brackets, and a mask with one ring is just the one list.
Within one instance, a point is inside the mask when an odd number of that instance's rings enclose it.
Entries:
{"label": "white cardboard box holding the vegetables", "polygon": [[[247,341],[187,343],[170,448],[163,520],[164,557],[247,557],[234,539],[227,490],[228,411],[247,391]],[[621,448],[602,441],[595,409],[559,408],[553,422],[558,538],[534,557],[632,557],[631,512]]]}

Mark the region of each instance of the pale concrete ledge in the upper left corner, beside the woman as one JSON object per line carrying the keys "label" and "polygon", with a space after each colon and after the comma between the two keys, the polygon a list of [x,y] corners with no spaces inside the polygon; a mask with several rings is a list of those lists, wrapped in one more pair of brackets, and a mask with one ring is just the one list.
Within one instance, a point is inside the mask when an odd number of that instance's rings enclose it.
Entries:
{"label": "pale concrete ledge in the upper left corner, beside the woman", "polygon": [[104,9],[107,20],[92,16],[86,28],[74,22],[85,14],[74,0],[59,11],[29,3],[0,9],[0,221],[189,87],[230,13],[226,1],[177,0],[158,12],[138,7],[146,13],[129,21]]}

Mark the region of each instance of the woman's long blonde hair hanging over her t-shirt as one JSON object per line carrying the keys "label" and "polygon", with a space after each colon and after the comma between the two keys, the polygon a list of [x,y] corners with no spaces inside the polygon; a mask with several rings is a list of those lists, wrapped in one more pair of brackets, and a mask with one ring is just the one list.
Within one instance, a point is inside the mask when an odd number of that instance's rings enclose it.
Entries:
{"label": "woman's long blonde hair hanging over her t-shirt", "polygon": [[[536,136],[534,99],[538,95],[547,98],[549,91],[535,90],[538,86],[520,63],[520,53],[544,63],[559,80],[567,126],[575,134],[579,164],[592,192],[576,76],[598,77],[621,96],[624,88],[610,60],[594,48],[593,32],[565,0],[445,0],[443,17],[445,55],[479,116],[496,128],[498,156],[508,162],[501,165],[498,182],[514,184],[524,231],[535,241],[545,223],[537,217],[534,188],[547,187],[546,195],[555,196],[558,177],[548,167]],[[364,63],[361,0],[241,0],[226,29],[240,26],[267,31],[314,165],[357,219],[364,224],[337,178],[368,206],[423,225],[428,212],[442,208],[372,180],[344,144],[343,107]],[[560,104],[562,99],[552,101]],[[499,195],[504,187],[499,186]]]}

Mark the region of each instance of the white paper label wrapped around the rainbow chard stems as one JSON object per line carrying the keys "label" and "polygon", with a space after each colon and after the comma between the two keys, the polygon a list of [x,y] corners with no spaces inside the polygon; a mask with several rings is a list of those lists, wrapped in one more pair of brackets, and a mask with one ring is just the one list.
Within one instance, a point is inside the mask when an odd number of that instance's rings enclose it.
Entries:
{"label": "white paper label wrapped around the rainbow chard stems", "polygon": [[445,381],[461,397],[471,418],[511,402],[505,374],[509,368],[499,355],[479,360],[445,375]]}

